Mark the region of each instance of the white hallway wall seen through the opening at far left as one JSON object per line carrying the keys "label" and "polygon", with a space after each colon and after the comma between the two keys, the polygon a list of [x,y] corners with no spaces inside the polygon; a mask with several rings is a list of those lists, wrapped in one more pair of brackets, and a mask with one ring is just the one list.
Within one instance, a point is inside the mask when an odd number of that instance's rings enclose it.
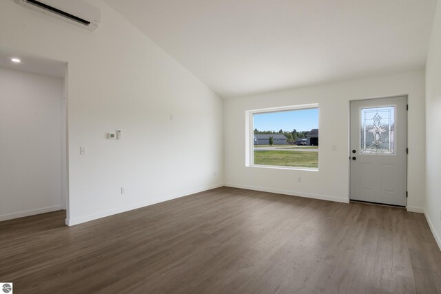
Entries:
{"label": "white hallway wall seen through the opening at far left", "polygon": [[62,78],[0,67],[0,220],[64,209]]}

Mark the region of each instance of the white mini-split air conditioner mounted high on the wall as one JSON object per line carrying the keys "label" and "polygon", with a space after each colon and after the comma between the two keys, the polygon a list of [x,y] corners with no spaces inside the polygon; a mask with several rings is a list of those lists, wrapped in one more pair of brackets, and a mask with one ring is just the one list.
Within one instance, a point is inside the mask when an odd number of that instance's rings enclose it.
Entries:
{"label": "white mini-split air conditioner mounted high on the wall", "polygon": [[101,23],[101,11],[81,0],[14,0],[17,4],[48,14],[88,30]]}

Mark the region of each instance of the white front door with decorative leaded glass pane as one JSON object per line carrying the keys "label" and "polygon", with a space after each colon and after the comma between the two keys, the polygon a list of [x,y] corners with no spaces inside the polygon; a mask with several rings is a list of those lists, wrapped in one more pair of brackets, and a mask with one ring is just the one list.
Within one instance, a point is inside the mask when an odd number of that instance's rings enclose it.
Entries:
{"label": "white front door with decorative leaded glass pane", "polygon": [[351,101],[351,200],[406,206],[407,96]]}

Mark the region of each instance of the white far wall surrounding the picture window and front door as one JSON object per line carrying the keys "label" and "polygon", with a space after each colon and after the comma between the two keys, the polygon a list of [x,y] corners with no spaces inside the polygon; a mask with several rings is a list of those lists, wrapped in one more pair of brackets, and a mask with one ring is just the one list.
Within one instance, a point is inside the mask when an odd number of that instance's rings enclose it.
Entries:
{"label": "white far wall surrounding the picture window and front door", "polygon": [[[424,72],[271,92],[224,102],[225,183],[260,191],[348,202],[349,101],[409,95],[408,209],[424,207]],[[245,112],[318,103],[319,171],[245,167]],[[336,145],[336,151],[332,150]],[[298,177],[302,182],[298,182]]]}

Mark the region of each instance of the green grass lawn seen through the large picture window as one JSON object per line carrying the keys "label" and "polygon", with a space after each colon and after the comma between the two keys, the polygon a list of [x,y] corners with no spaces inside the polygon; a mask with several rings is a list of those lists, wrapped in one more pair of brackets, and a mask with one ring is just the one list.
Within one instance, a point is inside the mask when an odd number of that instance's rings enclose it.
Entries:
{"label": "green grass lawn seen through the large picture window", "polygon": [[318,167],[318,151],[254,150],[255,165]]}

